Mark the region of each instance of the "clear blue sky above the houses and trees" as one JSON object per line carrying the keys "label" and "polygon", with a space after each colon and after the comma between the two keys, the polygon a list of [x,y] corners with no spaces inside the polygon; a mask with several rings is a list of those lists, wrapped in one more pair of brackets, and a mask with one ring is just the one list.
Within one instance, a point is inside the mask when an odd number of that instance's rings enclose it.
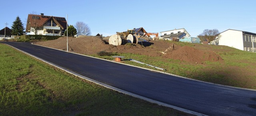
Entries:
{"label": "clear blue sky above the houses and trees", "polygon": [[[26,28],[28,14],[85,22],[92,35],[110,36],[143,27],[147,32],[185,28],[192,37],[204,29],[256,33],[256,0],[1,0],[0,29],[17,16]],[[160,33],[159,33],[160,34]]]}

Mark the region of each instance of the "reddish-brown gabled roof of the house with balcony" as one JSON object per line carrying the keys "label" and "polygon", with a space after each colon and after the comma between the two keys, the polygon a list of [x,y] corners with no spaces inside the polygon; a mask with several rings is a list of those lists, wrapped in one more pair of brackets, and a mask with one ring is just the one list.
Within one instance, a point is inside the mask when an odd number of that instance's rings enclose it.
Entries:
{"label": "reddish-brown gabled roof of the house with balcony", "polygon": [[[28,14],[28,21],[26,25],[26,32],[30,29],[33,24],[37,24],[38,26],[43,26],[48,20],[53,19],[56,24],[58,24],[62,29],[67,29],[67,21],[64,17],[57,17],[57,16],[44,16],[44,15],[35,15],[35,14]],[[29,23],[30,22],[30,23]],[[29,25],[31,24],[31,26]]]}

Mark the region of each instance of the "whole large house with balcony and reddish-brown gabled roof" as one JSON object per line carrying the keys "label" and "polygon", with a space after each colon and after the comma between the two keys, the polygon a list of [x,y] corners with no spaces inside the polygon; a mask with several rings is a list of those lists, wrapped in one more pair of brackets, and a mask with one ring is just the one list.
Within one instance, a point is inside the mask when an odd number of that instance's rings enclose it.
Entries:
{"label": "whole large house with balcony and reddish-brown gabled roof", "polygon": [[26,32],[30,35],[64,36],[66,29],[64,17],[28,14]]}

